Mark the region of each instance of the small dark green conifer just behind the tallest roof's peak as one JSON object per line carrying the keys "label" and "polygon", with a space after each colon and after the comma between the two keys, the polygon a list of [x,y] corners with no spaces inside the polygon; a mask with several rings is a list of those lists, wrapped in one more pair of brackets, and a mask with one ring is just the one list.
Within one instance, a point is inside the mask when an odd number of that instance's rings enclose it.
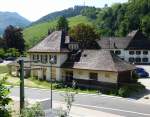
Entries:
{"label": "small dark green conifer just behind the tallest roof's peak", "polygon": [[64,16],[59,18],[56,28],[57,28],[57,30],[68,31],[68,29],[69,29],[68,21]]}

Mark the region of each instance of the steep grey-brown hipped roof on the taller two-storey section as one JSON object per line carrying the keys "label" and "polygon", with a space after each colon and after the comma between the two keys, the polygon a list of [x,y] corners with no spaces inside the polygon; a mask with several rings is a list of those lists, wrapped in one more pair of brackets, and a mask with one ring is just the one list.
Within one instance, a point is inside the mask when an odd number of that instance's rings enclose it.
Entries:
{"label": "steep grey-brown hipped roof on the taller two-storey section", "polygon": [[62,31],[54,31],[28,52],[68,52]]}

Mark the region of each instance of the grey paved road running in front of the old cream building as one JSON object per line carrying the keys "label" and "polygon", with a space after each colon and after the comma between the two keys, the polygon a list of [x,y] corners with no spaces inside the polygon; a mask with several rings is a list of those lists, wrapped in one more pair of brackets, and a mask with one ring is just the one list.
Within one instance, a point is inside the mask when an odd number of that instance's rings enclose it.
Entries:
{"label": "grey paved road running in front of the old cream building", "polygon": [[[62,95],[63,93],[54,91],[53,100],[63,101]],[[19,97],[19,88],[13,88],[10,96]],[[26,88],[25,97],[26,99],[34,100],[48,99],[50,97],[50,91]],[[77,94],[74,105],[126,117],[150,117],[150,105],[119,97]]]}

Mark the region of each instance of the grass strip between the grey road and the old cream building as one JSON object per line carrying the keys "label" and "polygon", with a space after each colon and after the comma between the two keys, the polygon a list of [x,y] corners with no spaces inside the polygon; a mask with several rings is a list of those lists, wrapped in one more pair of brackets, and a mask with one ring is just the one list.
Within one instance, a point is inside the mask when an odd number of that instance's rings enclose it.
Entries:
{"label": "grass strip between the grey road and the old cream building", "polygon": [[[19,86],[20,80],[18,77],[12,77],[7,75],[7,73],[0,74],[0,78],[7,77],[6,85],[12,85],[12,86]],[[50,89],[51,84],[47,81],[40,81],[35,78],[28,78],[24,80],[25,87],[32,87],[32,88],[42,88],[42,89]],[[66,91],[68,87],[62,87],[59,83],[53,83],[52,84],[53,90],[58,91]],[[88,89],[73,89],[70,88],[72,92],[79,92],[79,93],[96,93],[97,90],[88,90]]]}

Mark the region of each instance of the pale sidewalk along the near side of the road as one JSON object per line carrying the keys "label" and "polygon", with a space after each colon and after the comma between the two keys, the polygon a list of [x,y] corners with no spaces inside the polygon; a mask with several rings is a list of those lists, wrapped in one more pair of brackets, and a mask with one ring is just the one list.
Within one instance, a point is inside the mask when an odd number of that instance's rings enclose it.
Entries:
{"label": "pale sidewalk along the near side of the road", "polygon": [[[19,104],[18,98],[13,97],[13,100],[15,101],[16,104]],[[49,105],[50,100],[28,100],[28,103],[30,104],[34,104],[36,102],[40,102],[40,103],[43,102],[41,105],[42,107],[44,106],[43,108],[45,109],[46,117],[55,117],[50,110],[50,105]],[[53,101],[53,109],[57,110],[59,108],[65,109],[66,108],[65,103],[60,101]],[[123,116],[102,112],[98,110],[83,108],[79,106],[72,106],[70,111],[70,116],[71,117],[123,117]]]}

